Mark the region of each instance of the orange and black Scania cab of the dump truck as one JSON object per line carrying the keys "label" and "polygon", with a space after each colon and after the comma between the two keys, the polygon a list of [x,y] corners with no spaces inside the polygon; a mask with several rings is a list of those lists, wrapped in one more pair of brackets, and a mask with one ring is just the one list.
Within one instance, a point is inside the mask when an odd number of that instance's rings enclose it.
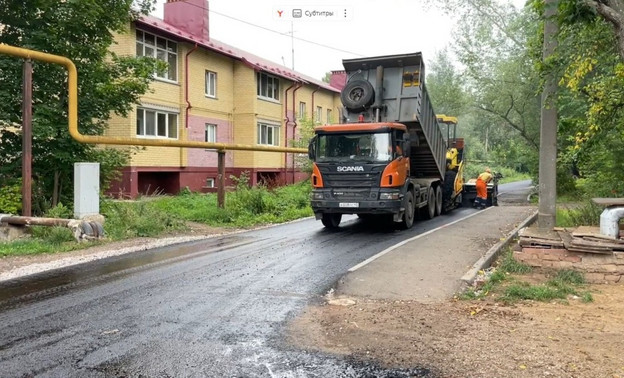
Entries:
{"label": "orange and black Scania cab of the dump truck", "polygon": [[317,219],[336,227],[342,214],[395,214],[409,177],[405,125],[356,123],[315,128],[311,205]]}

